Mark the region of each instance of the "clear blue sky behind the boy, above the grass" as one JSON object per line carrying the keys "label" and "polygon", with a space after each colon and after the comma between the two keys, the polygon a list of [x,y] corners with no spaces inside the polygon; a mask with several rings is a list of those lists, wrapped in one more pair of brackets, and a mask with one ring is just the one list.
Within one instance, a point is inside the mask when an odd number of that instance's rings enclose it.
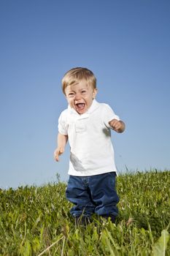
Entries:
{"label": "clear blue sky behind the boy, above the grass", "polygon": [[125,121],[112,132],[119,173],[170,170],[170,1],[0,1],[0,187],[68,179],[53,160],[63,74],[88,67],[99,102]]}

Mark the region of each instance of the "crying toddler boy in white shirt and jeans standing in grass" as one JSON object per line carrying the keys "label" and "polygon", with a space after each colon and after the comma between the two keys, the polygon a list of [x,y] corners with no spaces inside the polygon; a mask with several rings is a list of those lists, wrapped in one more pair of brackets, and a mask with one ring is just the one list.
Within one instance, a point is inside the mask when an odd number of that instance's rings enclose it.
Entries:
{"label": "crying toddler boy in white shirt and jeans standing in grass", "polygon": [[69,107],[58,119],[58,147],[55,160],[70,145],[69,182],[66,198],[76,223],[89,221],[92,214],[115,222],[119,197],[115,189],[115,158],[111,129],[123,132],[125,124],[112,108],[98,103],[96,78],[89,69],[69,70],[62,80]]}

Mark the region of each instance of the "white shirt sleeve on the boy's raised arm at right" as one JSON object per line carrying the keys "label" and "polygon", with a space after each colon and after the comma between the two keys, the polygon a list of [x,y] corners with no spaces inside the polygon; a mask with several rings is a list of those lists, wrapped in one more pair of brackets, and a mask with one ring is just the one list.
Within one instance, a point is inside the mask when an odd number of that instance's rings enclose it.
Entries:
{"label": "white shirt sleeve on the boy's raised arm at right", "polygon": [[108,128],[110,128],[108,123],[112,119],[117,119],[118,121],[120,121],[119,116],[117,116],[115,114],[115,112],[112,110],[112,108],[110,108],[110,106],[107,105],[107,104],[103,104],[102,117],[103,117],[103,120],[104,120],[104,124]]}

